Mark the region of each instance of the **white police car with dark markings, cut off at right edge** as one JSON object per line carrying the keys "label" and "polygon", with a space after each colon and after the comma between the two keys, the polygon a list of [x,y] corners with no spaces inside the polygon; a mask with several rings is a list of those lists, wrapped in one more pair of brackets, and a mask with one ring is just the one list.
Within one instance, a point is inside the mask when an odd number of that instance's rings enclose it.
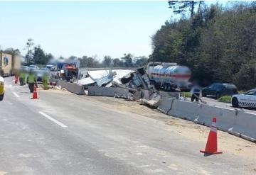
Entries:
{"label": "white police car with dark markings, cut off at right edge", "polygon": [[239,108],[240,106],[256,108],[256,88],[245,92],[245,94],[233,95],[231,103],[235,108]]}

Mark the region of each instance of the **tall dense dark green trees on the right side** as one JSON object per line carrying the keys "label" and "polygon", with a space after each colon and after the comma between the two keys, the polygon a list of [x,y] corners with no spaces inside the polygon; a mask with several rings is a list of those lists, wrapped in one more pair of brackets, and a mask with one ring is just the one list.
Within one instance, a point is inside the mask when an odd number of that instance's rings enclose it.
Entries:
{"label": "tall dense dark green trees on the right side", "polygon": [[184,13],[182,9],[185,8],[189,10],[185,14],[191,15],[188,18],[181,16],[176,21],[166,21],[157,30],[152,36],[153,52],[149,60],[186,65],[192,71],[192,79],[197,79],[203,86],[213,82],[227,82],[234,83],[239,89],[254,88],[255,2],[228,6],[206,6],[201,2],[200,7],[194,3],[169,2],[174,13]]}

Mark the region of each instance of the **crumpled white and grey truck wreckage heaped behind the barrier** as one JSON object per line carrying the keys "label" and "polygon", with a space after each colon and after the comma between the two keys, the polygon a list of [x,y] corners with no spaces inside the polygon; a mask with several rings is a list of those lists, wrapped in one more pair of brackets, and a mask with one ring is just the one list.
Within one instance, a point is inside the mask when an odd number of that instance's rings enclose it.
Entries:
{"label": "crumpled white and grey truck wreckage heaped behind the barrier", "polygon": [[[107,95],[106,91],[111,90],[110,96],[129,98],[137,100],[142,96],[142,89],[154,90],[149,82],[149,77],[144,67],[135,70],[95,70],[85,72],[85,78],[78,80],[78,84],[87,90],[88,95]],[[96,88],[105,87],[104,88]],[[97,94],[95,91],[102,91]]]}

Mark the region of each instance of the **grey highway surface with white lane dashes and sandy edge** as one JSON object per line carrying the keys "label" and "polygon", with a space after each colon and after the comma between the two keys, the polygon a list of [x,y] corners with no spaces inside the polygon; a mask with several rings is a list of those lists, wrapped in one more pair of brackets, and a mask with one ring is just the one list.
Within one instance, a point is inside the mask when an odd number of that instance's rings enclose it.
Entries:
{"label": "grey highway surface with white lane dashes and sandy edge", "polygon": [[207,127],[122,99],[38,90],[31,100],[13,79],[0,102],[0,174],[256,172],[255,143],[218,132],[224,153],[206,156]]}

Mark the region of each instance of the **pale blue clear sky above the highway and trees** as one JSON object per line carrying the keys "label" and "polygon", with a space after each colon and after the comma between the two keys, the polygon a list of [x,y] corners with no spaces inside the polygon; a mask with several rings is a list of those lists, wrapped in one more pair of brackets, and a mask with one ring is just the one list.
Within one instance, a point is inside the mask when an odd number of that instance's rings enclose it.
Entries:
{"label": "pale blue clear sky above the highway and trees", "polygon": [[172,18],[166,1],[0,1],[1,49],[26,54],[33,38],[55,57],[149,56],[151,36]]}

